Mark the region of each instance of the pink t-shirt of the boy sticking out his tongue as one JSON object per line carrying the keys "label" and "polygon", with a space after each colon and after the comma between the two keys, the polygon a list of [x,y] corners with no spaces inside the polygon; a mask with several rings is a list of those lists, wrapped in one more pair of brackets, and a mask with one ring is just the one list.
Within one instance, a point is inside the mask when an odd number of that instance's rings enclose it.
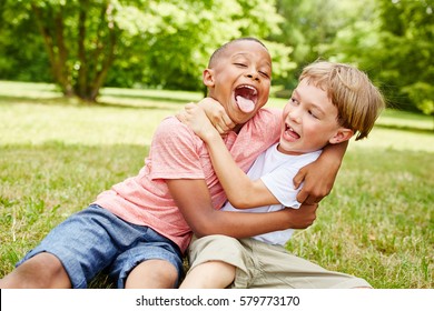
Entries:
{"label": "pink t-shirt of the boy sticking out his tongue", "polygon": [[[244,171],[278,140],[280,118],[280,110],[260,109],[238,134],[230,132],[227,136],[226,147]],[[220,209],[227,200],[205,143],[175,117],[169,117],[157,128],[149,157],[138,175],[103,191],[93,203],[128,222],[152,228],[184,252],[191,230],[175,204],[165,179],[204,179],[214,208]]]}

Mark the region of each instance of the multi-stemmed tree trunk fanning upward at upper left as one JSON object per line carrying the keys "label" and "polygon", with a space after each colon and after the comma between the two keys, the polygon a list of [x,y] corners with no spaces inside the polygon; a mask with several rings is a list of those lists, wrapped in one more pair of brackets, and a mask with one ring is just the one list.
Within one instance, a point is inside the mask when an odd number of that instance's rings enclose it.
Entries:
{"label": "multi-stemmed tree trunk fanning upward at upper left", "polygon": [[[31,3],[56,83],[65,96],[77,96],[88,102],[97,100],[115,60],[117,46],[115,7],[110,1],[99,6],[98,29],[91,31],[87,28],[91,9],[89,0],[80,0],[79,6],[72,10],[73,16],[68,4],[50,6],[46,2],[45,7],[38,7],[36,2]],[[76,37],[72,34],[66,38],[69,33],[65,29],[67,13],[68,17],[77,18]],[[88,32],[96,33],[96,37],[89,36]],[[73,46],[77,49],[77,59],[72,59],[72,44],[77,44]]]}

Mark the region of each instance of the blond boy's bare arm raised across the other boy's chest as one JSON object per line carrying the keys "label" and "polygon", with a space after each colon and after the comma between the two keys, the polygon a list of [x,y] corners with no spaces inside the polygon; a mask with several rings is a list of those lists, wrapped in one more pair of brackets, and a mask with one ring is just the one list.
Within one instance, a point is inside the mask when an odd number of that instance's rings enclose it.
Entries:
{"label": "blond boy's bare arm raised across the other boy's chest", "polygon": [[196,104],[188,104],[185,111],[184,122],[207,144],[214,170],[229,202],[235,208],[248,209],[279,203],[260,179],[250,180],[238,168],[204,109]]}

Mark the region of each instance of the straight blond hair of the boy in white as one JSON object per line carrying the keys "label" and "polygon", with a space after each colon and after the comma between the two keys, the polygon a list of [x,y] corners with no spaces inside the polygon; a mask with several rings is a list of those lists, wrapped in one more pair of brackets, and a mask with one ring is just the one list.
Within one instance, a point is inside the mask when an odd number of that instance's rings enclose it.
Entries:
{"label": "straight blond hair of the boy in white", "polygon": [[316,61],[304,68],[299,81],[304,79],[327,92],[339,126],[357,133],[356,140],[368,136],[385,103],[366,73],[349,64]]}

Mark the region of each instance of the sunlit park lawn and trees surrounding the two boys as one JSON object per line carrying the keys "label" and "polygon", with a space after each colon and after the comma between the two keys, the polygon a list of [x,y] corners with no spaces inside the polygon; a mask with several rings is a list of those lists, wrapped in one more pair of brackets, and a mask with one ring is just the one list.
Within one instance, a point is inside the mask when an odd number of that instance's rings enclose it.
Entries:
{"label": "sunlit park lawn and trees surrounding the two boys", "polygon": [[356,66],[387,102],[287,250],[376,289],[434,288],[432,0],[0,1],[0,278],[137,174],[160,121],[204,98],[209,56],[240,37],[273,57],[268,107],[317,59]]}

